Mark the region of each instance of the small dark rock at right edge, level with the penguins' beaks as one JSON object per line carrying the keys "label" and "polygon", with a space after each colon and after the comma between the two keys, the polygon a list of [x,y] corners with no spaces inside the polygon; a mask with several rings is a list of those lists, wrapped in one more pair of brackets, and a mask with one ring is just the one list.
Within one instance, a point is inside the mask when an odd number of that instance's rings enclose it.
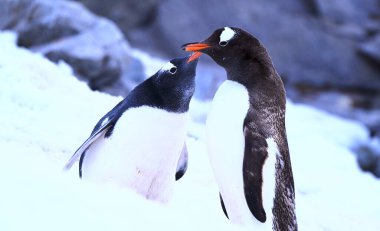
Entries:
{"label": "small dark rock at right edge, level with the penguins' beaks", "polygon": [[[365,58],[371,60],[376,67],[380,70],[380,34],[372,38],[371,40],[360,44],[358,51]],[[379,76],[380,78],[380,76]]]}

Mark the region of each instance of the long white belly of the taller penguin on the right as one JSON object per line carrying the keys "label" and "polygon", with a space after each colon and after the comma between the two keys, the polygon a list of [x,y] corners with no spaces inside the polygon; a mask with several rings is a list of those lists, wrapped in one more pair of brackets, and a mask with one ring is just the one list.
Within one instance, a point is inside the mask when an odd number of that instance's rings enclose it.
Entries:
{"label": "long white belly of the taller penguin on the right", "polygon": [[247,89],[237,82],[225,81],[215,94],[207,118],[207,148],[229,219],[238,224],[262,226],[249,210],[244,195],[243,123],[248,109]]}

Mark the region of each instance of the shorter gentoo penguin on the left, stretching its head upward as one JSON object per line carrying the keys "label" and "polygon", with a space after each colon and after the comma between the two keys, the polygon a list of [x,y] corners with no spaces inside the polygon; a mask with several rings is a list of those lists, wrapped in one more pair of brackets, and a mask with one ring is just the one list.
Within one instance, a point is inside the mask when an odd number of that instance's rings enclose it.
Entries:
{"label": "shorter gentoo penguin on the left, stretching its head upward", "polygon": [[167,202],[187,167],[184,143],[196,66],[188,57],[173,59],[138,85],[100,119],[64,170],[80,158],[82,179]]}

